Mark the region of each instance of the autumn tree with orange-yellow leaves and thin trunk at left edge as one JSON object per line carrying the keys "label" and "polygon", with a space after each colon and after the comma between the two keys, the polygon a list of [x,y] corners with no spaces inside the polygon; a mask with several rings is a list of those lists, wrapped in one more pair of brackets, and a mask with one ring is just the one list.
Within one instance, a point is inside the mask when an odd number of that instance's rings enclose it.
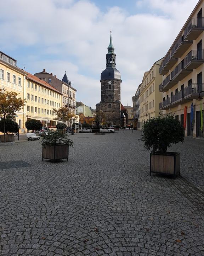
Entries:
{"label": "autumn tree with orange-yellow leaves and thin trunk at left edge", "polygon": [[0,90],[0,118],[4,122],[4,141],[6,141],[6,119],[16,117],[16,112],[21,110],[26,101],[17,97],[16,92]]}

